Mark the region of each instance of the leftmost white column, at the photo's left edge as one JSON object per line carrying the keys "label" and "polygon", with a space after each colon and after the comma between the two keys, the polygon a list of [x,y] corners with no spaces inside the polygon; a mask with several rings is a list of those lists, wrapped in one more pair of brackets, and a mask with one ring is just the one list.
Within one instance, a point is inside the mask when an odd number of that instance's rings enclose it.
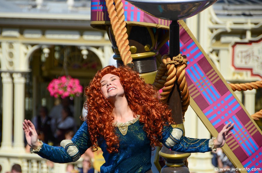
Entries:
{"label": "leftmost white column, at the photo's left edge", "polygon": [[12,149],[13,132],[13,79],[10,73],[1,73],[3,83],[3,134],[1,152]]}

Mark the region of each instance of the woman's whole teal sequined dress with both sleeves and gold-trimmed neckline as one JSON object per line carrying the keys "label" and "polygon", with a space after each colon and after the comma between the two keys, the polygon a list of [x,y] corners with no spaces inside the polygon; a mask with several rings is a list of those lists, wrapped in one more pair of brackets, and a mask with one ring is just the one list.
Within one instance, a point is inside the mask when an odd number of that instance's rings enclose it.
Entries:
{"label": "woman's whole teal sequined dress with both sleeves and gold-trimmed neckline", "polygon": [[[119,136],[119,149],[117,153],[109,154],[106,150],[105,140],[98,140],[103,151],[105,163],[100,167],[104,172],[147,172],[151,169],[151,145],[143,130],[143,123],[139,116],[131,123],[120,123],[115,126],[115,133]],[[174,133],[174,132],[178,133]],[[183,136],[183,131],[171,126],[164,126],[160,142],[168,148],[178,152],[208,152],[211,151],[210,139],[192,139]],[[212,143],[212,141],[211,141]],[[37,154],[56,163],[76,161],[91,147],[87,123],[84,122],[72,140],[63,140],[61,147],[43,144]]]}

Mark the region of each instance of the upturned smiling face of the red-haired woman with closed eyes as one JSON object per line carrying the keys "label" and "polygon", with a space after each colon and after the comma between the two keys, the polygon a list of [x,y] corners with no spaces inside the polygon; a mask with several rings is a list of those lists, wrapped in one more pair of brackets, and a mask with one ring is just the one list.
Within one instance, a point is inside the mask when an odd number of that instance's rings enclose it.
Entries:
{"label": "upturned smiling face of the red-haired woman with closed eyes", "polygon": [[125,91],[118,76],[108,73],[102,77],[100,83],[105,98],[111,100],[117,96],[123,97]]}

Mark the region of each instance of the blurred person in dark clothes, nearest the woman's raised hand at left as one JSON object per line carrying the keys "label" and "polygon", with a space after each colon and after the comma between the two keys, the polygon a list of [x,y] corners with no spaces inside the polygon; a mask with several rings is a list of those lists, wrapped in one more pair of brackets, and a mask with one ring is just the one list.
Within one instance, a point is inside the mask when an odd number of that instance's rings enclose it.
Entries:
{"label": "blurred person in dark clothes, nearest the woman's raised hand at left", "polygon": [[42,106],[40,107],[38,116],[32,119],[32,122],[35,124],[36,132],[43,136],[42,139],[45,143],[49,143],[54,140],[54,136],[51,131],[51,118],[47,115],[47,107]]}

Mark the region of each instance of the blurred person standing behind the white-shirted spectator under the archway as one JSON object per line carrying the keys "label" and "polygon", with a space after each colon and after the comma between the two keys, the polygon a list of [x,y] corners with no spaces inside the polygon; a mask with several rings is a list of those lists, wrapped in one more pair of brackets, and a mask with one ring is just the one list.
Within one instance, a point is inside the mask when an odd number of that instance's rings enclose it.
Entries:
{"label": "blurred person standing behind the white-shirted spectator under the archway", "polygon": [[70,104],[70,99],[68,97],[61,99],[61,103],[54,106],[49,113],[49,117],[51,118],[51,130],[53,133],[55,133],[57,128],[57,120],[62,116],[63,107],[69,107],[72,115],[74,115],[74,106]]}

